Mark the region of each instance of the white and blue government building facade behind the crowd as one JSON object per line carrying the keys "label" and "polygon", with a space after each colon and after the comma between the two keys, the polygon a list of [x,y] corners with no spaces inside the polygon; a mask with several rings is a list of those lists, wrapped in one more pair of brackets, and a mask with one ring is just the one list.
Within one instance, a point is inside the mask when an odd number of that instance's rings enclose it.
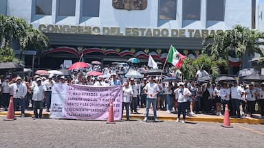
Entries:
{"label": "white and blue government building facade behind the crowd", "polygon": [[[50,39],[40,66],[165,61],[170,45],[195,58],[202,38],[239,24],[255,28],[254,0],[1,0],[0,13],[25,18]],[[25,58],[26,62],[30,57]],[[31,62],[30,62],[31,63]]]}

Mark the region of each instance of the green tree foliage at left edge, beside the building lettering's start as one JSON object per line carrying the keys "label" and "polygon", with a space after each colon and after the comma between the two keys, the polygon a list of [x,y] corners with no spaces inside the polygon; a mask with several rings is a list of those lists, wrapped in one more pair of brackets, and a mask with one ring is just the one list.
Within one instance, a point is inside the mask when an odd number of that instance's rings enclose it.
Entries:
{"label": "green tree foliage at left edge, beside the building lettering's start", "polygon": [[[39,29],[34,29],[22,18],[0,15],[0,39],[1,53],[7,53],[7,57],[0,57],[0,61],[10,61],[14,59],[14,51],[10,45],[14,40],[19,40],[19,47],[22,51],[28,49],[38,50],[39,53],[46,49],[49,40]],[[3,51],[7,50],[7,51]],[[5,54],[3,54],[5,56]],[[12,60],[11,60],[12,61]]]}

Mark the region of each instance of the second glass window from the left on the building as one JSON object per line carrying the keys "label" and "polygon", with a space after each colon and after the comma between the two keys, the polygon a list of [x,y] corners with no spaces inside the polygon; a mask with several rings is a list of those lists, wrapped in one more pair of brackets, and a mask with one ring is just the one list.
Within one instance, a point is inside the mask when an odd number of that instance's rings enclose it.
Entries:
{"label": "second glass window from the left on the building", "polygon": [[76,1],[75,0],[59,0],[58,1],[59,16],[75,16]]}

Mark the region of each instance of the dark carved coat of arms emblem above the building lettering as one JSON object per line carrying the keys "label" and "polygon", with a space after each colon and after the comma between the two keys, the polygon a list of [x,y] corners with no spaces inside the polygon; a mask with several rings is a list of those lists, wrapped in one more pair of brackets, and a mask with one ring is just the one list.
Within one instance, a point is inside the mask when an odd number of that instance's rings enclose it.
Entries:
{"label": "dark carved coat of arms emblem above the building lettering", "polygon": [[147,0],[112,0],[113,8],[122,10],[144,10]]}

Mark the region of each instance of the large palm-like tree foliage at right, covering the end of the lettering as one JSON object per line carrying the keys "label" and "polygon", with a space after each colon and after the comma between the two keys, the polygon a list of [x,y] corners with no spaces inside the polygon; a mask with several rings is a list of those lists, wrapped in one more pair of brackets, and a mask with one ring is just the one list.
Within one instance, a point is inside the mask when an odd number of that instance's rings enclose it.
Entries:
{"label": "large palm-like tree foliage at right, covering the end of the lettering", "polygon": [[235,25],[229,31],[211,34],[204,38],[203,53],[225,60],[228,60],[228,56],[241,58],[245,53],[249,55],[259,53],[264,56],[264,51],[259,46],[264,45],[261,38],[264,38],[264,33]]}

